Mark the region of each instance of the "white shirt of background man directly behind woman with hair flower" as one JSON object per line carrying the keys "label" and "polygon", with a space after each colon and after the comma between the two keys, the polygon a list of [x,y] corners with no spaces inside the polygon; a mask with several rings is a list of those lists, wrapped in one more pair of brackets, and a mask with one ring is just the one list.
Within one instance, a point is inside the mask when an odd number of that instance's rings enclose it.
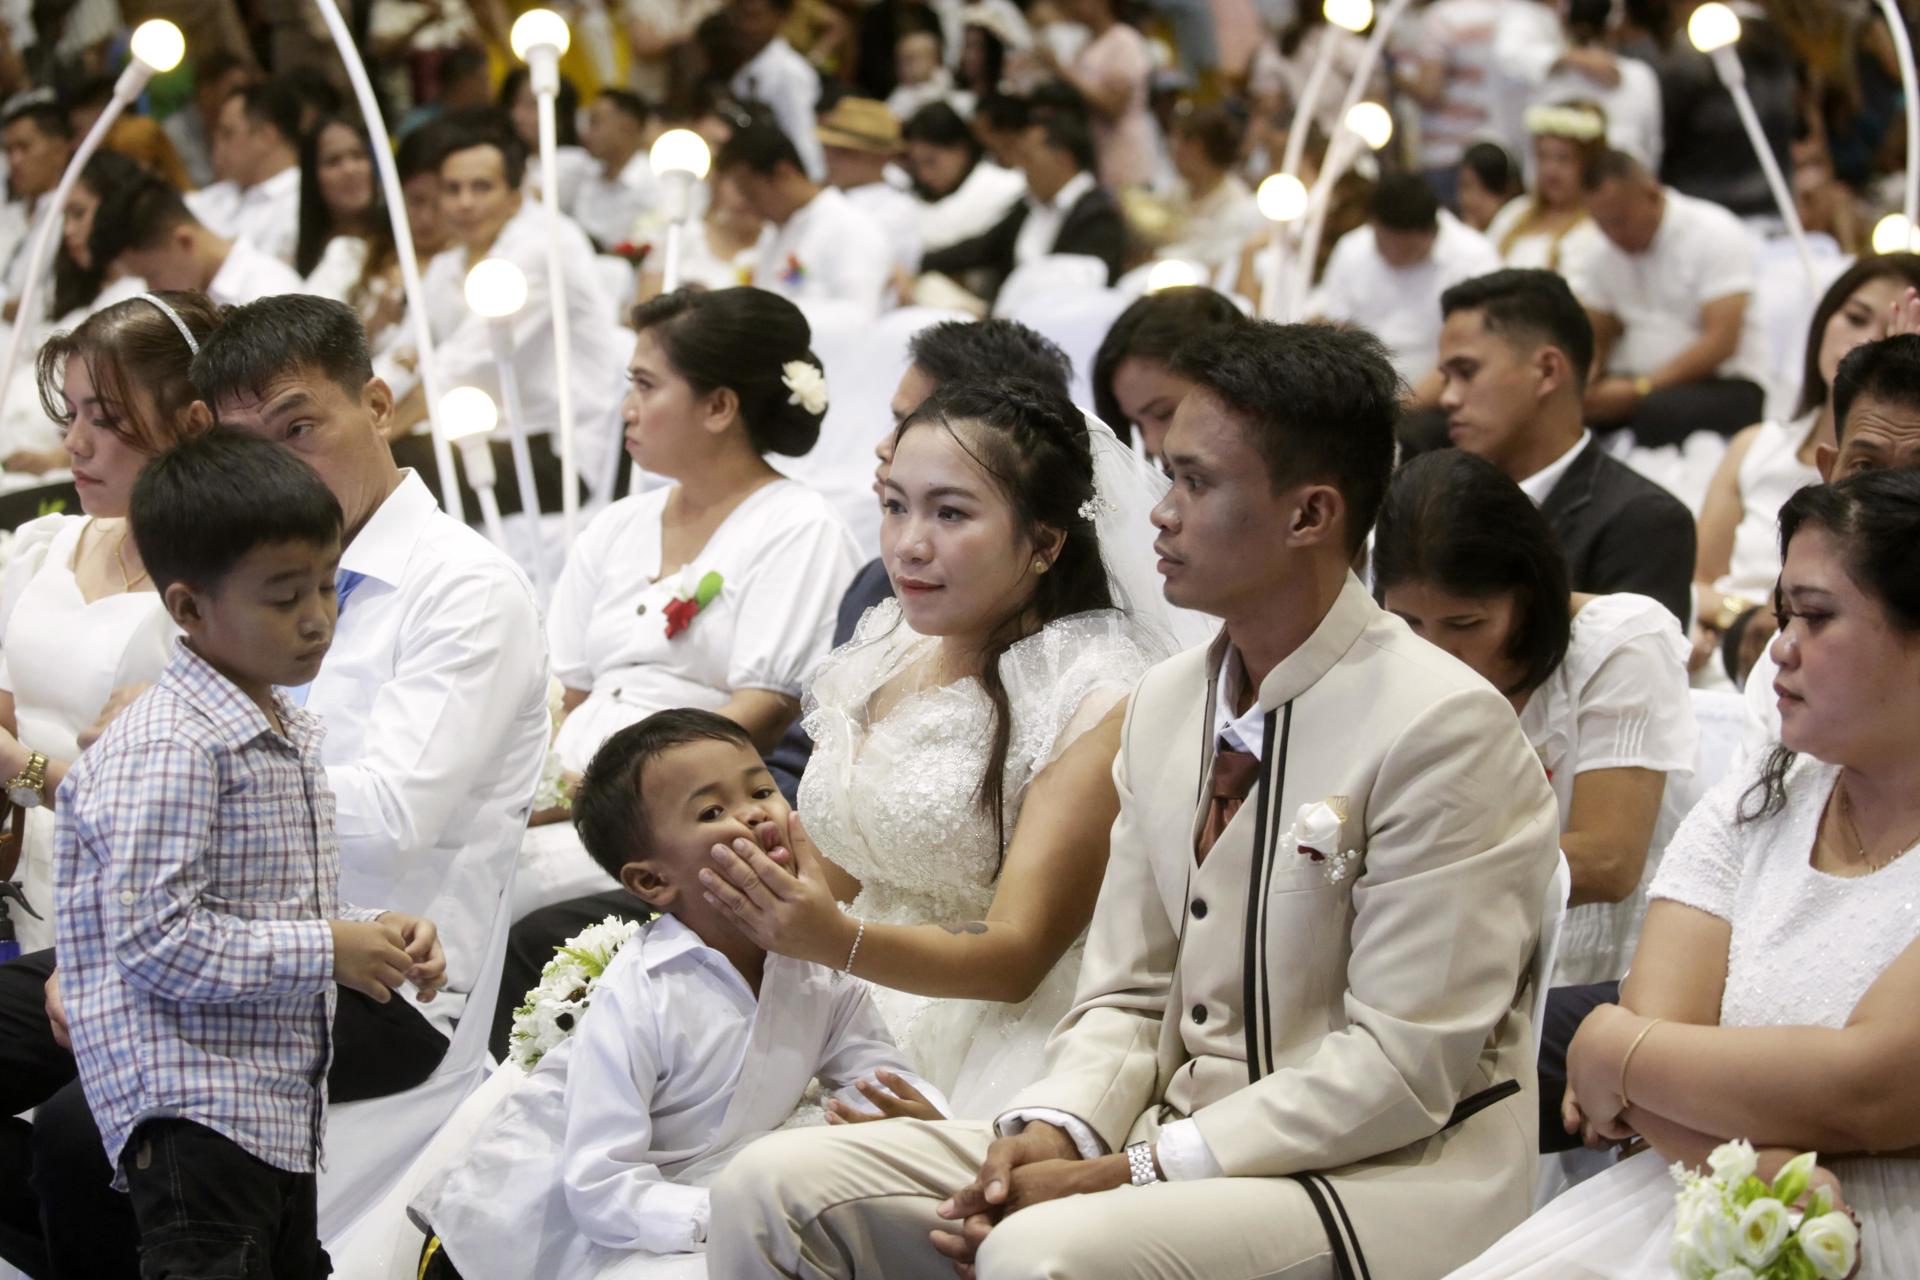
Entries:
{"label": "white shirt of background man directly behind woman with hair flower", "polygon": [[835,313],[854,320],[879,315],[893,259],[876,251],[887,232],[872,215],[831,186],[781,225],[760,228],[753,282],[791,297],[806,319]]}

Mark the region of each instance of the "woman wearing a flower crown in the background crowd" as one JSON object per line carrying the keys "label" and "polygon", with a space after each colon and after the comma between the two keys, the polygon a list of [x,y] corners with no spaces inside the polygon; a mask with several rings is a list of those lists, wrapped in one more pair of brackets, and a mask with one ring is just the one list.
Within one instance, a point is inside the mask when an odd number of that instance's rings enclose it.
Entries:
{"label": "woman wearing a flower crown in the background crowd", "polygon": [[1586,215],[1586,167],[1607,150],[1607,117],[1588,102],[1538,106],[1526,113],[1534,146],[1534,190],[1509,201],[1486,226],[1507,267],[1578,274],[1599,249]]}

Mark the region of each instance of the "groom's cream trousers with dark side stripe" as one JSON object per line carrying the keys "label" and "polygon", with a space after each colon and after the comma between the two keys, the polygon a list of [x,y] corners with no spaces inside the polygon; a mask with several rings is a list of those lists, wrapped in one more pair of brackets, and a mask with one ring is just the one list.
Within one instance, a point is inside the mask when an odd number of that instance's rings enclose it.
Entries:
{"label": "groom's cream trousers with dark side stripe", "polygon": [[[714,1280],[950,1280],[933,1209],[979,1173],[991,1128],[876,1121],[760,1138],[712,1186]],[[979,1280],[1332,1280],[1290,1178],[1208,1178],[1069,1196],[1000,1221]]]}

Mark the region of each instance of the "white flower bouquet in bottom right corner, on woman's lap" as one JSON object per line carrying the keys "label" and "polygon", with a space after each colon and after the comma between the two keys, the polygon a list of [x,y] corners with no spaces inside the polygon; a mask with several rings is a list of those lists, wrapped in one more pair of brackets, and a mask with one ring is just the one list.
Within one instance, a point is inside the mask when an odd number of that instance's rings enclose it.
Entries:
{"label": "white flower bouquet in bottom right corner, on woman's lap", "polygon": [[[1843,1280],[1860,1255],[1860,1228],[1834,1209],[1826,1188],[1807,1196],[1814,1153],[1795,1155],[1772,1186],[1761,1182],[1753,1146],[1728,1142],[1709,1173],[1674,1165],[1672,1265],[1680,1280]],[[1793,1205],[1807,1196],[1805,1211]]]}

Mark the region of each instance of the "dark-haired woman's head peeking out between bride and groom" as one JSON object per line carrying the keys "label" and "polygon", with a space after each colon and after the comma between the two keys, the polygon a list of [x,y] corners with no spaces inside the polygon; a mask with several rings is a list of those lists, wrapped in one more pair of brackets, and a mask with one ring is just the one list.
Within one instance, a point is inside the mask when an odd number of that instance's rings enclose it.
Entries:
{"label": "dark-haired woman's head peeking out between bride and groom", "polygon": [[1238,324],[1246,315],[1210,288],[1185,286],[1140,297],[1114,320],[1092,357],[1092,407],[1123,439],[1140,434],[1146,457],[1165,447],[1173,411],[1192,382],[1173,372],[1187,340]]}

